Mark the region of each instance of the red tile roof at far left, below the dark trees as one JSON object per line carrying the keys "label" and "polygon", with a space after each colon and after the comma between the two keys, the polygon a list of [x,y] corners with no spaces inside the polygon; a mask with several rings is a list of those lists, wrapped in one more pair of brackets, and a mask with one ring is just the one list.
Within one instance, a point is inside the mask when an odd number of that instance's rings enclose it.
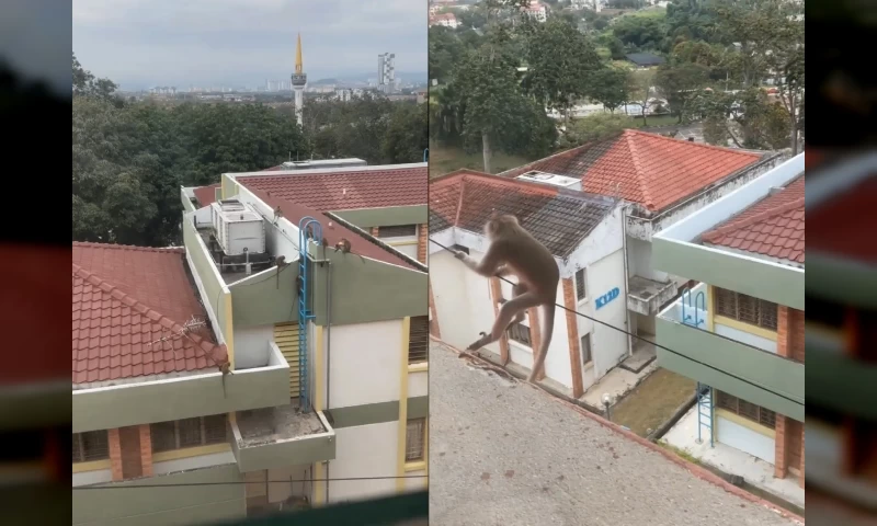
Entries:
{"label": "red tile roof at far left, below the dark trees", "polygon": [[73,243],[73,385],[208,369],[228,359],[206,330],[149,345],[182,331],[193,316],[206,319],[184,253]]}

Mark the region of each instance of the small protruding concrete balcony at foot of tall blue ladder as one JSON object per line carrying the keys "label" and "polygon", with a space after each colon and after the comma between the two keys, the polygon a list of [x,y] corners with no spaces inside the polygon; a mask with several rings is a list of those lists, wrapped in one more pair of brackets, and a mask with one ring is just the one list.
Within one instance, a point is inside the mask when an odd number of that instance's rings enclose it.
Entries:
{"label": "small protruding concrete balcony at foot of tall blue ladder", "polygon": [[239,412],[231,433],[241,472],[335,458],[335,432],[322,411],[301,411],[295,402]]}

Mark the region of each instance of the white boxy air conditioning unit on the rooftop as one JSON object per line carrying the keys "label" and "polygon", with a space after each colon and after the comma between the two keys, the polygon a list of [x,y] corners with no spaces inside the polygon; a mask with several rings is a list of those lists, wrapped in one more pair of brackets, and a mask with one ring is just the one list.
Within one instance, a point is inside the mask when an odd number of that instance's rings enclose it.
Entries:
{"label": "white boxy air conditioning unit on the rooftop", "polygon": [[265,252],[265,225],[262,216],[238,199],[221,199],[210,205],[216,241],[226,255]]}

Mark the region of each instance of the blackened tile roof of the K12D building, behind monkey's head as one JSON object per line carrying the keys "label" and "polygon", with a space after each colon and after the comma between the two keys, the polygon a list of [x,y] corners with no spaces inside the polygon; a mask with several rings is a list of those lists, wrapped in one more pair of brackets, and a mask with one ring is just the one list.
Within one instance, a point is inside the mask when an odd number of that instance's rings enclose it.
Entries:
{"label": "blackened tile roof of the K12D building, behind monkey's head", "polygon": [[430,231],[481,232],[492,210],[512,214],[558,258],[568,256],[613,208],[612,199],[460,170],[430,184]]}

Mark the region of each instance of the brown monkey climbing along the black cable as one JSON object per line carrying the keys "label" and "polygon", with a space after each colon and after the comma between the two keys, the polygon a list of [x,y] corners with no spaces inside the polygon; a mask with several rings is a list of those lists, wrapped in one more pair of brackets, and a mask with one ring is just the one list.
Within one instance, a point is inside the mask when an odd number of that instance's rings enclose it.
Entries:
{"label": "brown monkey climbing along the black cable", "polygon": [[496,342],[509,325],[524,319],[527,309],[542,307],[543,338],[527,378],[527,381],[535,382],[551,343],[560,270],[551,252],[524,230],[514,216],[492,213],[485,225],[485,235],[490,245],[481,261],[475,261],[463,251],[455,251],[454,256],[485,277],[514,275],[517,284],[512,287],[512,299],[501,301],[502,307],[490,332],[482,332],[481,338],[466,350],[475,351]]}

